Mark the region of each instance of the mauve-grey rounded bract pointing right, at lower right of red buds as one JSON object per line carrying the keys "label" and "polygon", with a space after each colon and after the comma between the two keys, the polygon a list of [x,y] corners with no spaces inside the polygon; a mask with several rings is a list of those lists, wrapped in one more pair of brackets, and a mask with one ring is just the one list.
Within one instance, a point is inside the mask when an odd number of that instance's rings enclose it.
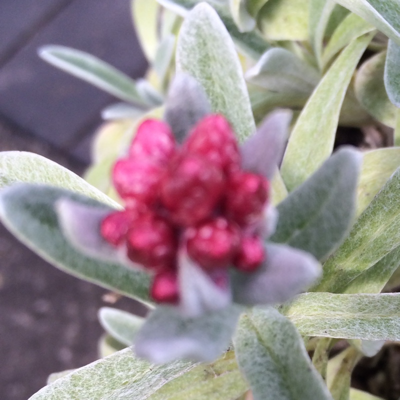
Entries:
{"label": "mauve-grey rounded bract pointing right, at lower right of red buds", "polygon": [[283,244],[267,243],[264,263],[254,272],[232,270],[233,301],[240,304],[277,304],[305,290],[320,275],[309,253]]}

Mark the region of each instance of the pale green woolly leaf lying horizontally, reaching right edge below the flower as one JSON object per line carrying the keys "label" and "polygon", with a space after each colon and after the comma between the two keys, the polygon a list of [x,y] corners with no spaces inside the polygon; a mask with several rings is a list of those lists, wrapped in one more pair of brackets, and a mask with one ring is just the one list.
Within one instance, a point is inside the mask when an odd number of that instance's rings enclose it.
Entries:
{"label": "pale green woolly leaf lying horizontally, reaching right edge below the flower", "polygon": [[302,335],[400,339],[400,294],[304,293],[280,311]]}

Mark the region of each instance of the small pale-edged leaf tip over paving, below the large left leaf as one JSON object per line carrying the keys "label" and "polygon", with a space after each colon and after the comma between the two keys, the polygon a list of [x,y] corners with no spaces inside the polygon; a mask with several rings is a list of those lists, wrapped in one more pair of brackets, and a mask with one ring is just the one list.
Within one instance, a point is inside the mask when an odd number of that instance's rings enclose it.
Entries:
{"label": "small pale-edged leaf tip over paving, below the large left leaf", "polygon": [[111,307],[101,307],[98,320],[107,333],[127,346],[132,345],[137,331],[144,323],[144,318],[140,316]]}

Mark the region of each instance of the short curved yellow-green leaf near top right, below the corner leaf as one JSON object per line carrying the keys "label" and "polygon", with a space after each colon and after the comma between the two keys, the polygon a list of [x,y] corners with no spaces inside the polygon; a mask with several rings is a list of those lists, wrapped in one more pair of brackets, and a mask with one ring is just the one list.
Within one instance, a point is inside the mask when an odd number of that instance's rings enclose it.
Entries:
{"label": "short curved yellow-green leaf near top right, below the corner leaf", "polygon": [[356,14],[349,13],[333,31],[322,53],[322,65],[326,66],[330,59],[351,40],[374,30],[375,27]]}

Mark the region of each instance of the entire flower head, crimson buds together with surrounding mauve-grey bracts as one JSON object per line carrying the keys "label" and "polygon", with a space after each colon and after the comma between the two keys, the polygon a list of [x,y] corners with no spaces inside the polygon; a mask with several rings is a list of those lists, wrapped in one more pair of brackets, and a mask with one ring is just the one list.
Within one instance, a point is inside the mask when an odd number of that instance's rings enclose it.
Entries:
{"label": "entire flower head, crimson buds together with surrounding mauve-grey bracts", "polygon": [[[139,355],[213,359],[240,312],[232,304],[280,303],[318,276],[310,254],[265,241],[277,220],[271,179],[290,116],[271,113],[239,144],[202,87],[178,75],[164,120],[142,121],[114,164],[124,209],[59,204],[64,232],[81,251],[150,275],[148,296],[159,305],[137,334]],[[197,336],[213,324],[217,345]]]}

